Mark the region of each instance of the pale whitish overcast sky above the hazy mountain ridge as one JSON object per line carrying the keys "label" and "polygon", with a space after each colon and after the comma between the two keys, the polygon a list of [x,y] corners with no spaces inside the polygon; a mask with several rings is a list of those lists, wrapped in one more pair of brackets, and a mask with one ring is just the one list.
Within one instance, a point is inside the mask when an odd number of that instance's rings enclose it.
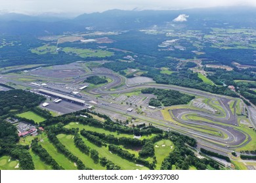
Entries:
{"label": "pale whitish overcast sky above the hazy mountain ridge", "polygon": [[0,12],[73,14],[121,10],[173,10],[185,8],[253,6],[255,0],[0,0]]}

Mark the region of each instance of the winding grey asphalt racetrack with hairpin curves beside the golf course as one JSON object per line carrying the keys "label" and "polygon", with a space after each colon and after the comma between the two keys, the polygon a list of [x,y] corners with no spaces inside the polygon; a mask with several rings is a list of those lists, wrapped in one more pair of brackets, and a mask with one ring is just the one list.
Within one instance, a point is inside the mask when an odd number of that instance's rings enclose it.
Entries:
{"label": "winding grey asphalt racetrack with hairpin curves beside the golf course", "polygon": [[[123,82],[123,78],[114,73],[89,73],[88,75],[83,76],[83,78],[86,78],[87,76],[93,76],[93,75],[107,76],[113,80],[112,82],[110,82],[100,88],[95,88],[95,89],[91,90],[90,92],[93,94],[95,94],[95,93],[97,93],[97,94],[127,93],[127,92],[132,92],[134,90],[138,90],[141,88],[160,88],[160,89],[177,90],[179,92],[190,93],[192,95],[198,95],[200,97],[206,97],[206,98],[210,98],[210,99],[215,98],[219,101],[219,103],[221,104],[221,106],[224,109],[222,118],[219,118],[219,116],[217,117],[214,114],[207,114],[205,112],[203,113],[203,112],[197,111],[198,114],[200,114],[200,116],[202,115],[205,118],[209,118],[210,120],[221,120],[221,122],[223,122],[223,123],[226,123],[229,125],[235,125],[234,115],[232,115],[232,112],[227,104],[227,101],[232,99],[231,97],[216,95],[213,93],[207,93],[207,92],[203,92],[200,90],[194,90],[191,88],[184,88],[184,87],[180,87],[180,86],[164,85],[164,84],[138,84],[136,86],[125,85],[125,86],[122,86],[121,88],[118,88],[118,90],[116,90],[116,91],[109,91],[110,88],[119,86]],[[35,88],[35,89],[38,88],[36,86],[31,86],[30,84],[26,84],[24,82],[12,80],[12,77],[15,78],[15,76],[8,76],[8,78],[5,78],[5,81],[14,82],[14,83],[20,84],[22,86],[30,86],[31,88]],[[83,78],[79,78],[79,80],[81,80]],[[85,95],[83,95],[83,98],[85,99]],[[99,99],[99,103],[104,103],[104,101],[100,101],[100,100],[101,99]],[[214,127],[215,129],[219,129],[220,131],[224,131],[226,133],[226,135],[228,135],[228,138],[226,138],[226,139],[221,138],[221,137],[215,137],[215,136],[209,135],[209,134],[205,134],[200,131],[196,131],[194,129],[188,129],[187,127],[182,127],[180,125],[171,124],[170,122],[167,122],[165,120],[159,120],[158,118],[154,118],[154,116],[152,116],[152,117],[142,116],[135,112],[132,114],[127,114],[126,111],[121,110],[120,108],[117,108],[114,105],[113,106],[98,105],[98,107],[100,107],[104,110],[119,112],[120,114],[125,114],[127,116],[131,115],[137,119],[144,120],[145,122],[156,124],[159,127],[166,129],[166,130],[173,129],[175,131],[179,131],[182,134],[194,137],[195,139],[198,140],[198,142],[201,145],[203,145],[205,147],[207,147],[207,146],[215,147],[217,150],[219,150],[221,152],[227,153],[227,152],[230,152],[230,149],[224,148],[224,146],[222,146],[220,144],[216,144],[216,142],[219,142],[221,144],[226,144],[227,146],[236,146],[236,145],[239,145],[242,141],[245,141],[245,140],[247,140],[247,142],[250,141],[250,139],[245,139],[246,137],[245,137],[244,133],[241,133],[240,131],[237,131],[236,129],[234,129],[232,127],[227,127],[225,125],[210,124],[207,122],[203,122],[203,124],[202,124],[202,125],[208,125],[209,127]],[[186,111],[186,112],[188,114],[189,111]],[[256,116],[253,116],[253,114],[255,114],[255,112],[253,113],[253,110],[250,110],[249,115],[252,116],[251,118],[255,119]],[[179,122],[186,123],[189,125],[195,125],[195,124],[198,125],[198,122],[184,121],[181,119],[181,116],[177,116],[177,115],[176,115],[176,117],[179,120]],[[200,123],[202,123],[202,122],[200,122]]]}

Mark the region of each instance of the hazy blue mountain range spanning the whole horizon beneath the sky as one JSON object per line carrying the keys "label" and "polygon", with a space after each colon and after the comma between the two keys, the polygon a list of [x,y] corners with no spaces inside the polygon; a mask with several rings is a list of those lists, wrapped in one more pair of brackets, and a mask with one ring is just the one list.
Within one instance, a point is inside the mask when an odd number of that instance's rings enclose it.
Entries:
{"label": "hazy blue mountain range spanning the whole horizon beneath the sky", "polygon": [[[184,14],[187,21],[173,22]],[[179,20],[179,19],[178,19]],[[188,10],[108,10],[81,14],[73,19],[47,14],[28,16],[24,14],[1,14],[0,33],[14,34],[57,34],[64,31],[85,31],[85,27],[96,30],[122,31],[150,27],[170,28],[175,25],[190,29],[209,27],[256,27],[256,8],[223,7],[197,8]]]}

